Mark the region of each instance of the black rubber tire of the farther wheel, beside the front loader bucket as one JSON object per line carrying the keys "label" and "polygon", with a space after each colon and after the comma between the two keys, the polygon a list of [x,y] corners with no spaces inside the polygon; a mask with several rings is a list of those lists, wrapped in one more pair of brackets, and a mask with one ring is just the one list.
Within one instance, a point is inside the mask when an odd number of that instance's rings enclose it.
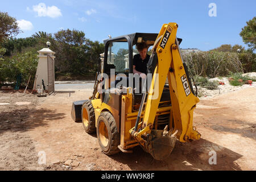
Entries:
{"label": "black rubber tire of the farther wheel, beside the front loader bucket", "polygon": [[[88,113],[88,126],[86,126],[84,123],[84,117],[83,117],[84,109],[86,109]],[[84,126],[86,133],[88,134],[96,133],[95,113],[94,113],[92,102],[90,100],[85,101],[84,105],[82,105],[82,126]]]}

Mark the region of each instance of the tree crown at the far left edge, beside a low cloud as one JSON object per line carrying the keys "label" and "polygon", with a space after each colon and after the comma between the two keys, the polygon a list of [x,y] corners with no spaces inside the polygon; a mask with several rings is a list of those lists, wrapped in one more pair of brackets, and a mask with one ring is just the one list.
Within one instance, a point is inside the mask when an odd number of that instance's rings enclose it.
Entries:
{"label": "tree crown at the far left edge, beside a low cloud", "polygon": [[9,16],[8,13],[0,12],[0,42],[6,38],[18,35],[20,32],[16,19]]}

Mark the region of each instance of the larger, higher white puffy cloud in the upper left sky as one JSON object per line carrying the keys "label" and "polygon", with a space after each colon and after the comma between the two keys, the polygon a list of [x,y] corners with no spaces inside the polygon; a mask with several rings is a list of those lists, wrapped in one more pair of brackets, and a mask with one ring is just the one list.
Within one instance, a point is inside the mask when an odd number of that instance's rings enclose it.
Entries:
{"label": "larger, higher white puffy cloud in the upper left sky", "polygon": [[33,6],[33,11],[38,13],[39,17],[48,16],[51,18],[57,18],[62,16],[61,10],[56,6],[47,6],[45,3],[39,3],[38,5]]}

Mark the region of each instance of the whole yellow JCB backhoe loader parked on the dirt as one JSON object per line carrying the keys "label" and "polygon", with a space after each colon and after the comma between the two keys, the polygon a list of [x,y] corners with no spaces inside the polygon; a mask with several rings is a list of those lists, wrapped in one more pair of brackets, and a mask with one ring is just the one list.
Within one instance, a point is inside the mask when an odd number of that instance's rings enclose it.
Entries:
{"label": "whole yellow JCB backhoe loader parked on the dirt", "polygon": [[[181,57],[182,39],[176,38],[177,29],[176,23],[168,23],[159,34],[135,33],[104,41],[105,55],[99,61],[93,96],[73,103],[72,118],[81,120],[87,133],[97,132],[106,155],[129,153],[140,145],[154,159],[163,160],[171,154],[176,140],[200,139],[193,127],[199,98]],[[135,46],[142,42],[152,47],[147,64],[152,81],[144,81],[142,89],[135,92],[134,77],[129,76],[133,74]],[[129,86],[118,86],[118,81]],[[148,92],[140,91],[146,87]]]}

